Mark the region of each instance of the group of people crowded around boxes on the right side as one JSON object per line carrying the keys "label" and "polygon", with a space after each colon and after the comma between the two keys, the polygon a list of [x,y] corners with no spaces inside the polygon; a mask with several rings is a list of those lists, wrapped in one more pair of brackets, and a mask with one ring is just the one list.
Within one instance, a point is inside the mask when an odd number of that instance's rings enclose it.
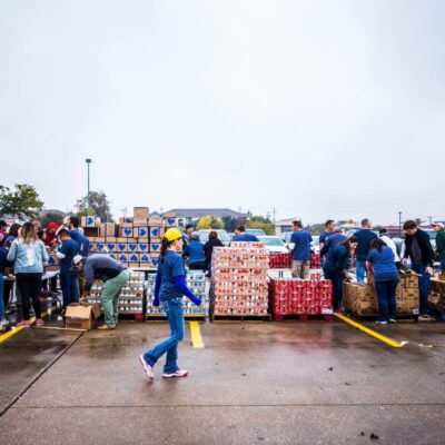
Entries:
{"label": "group of people crowded around boxes on the right side", "polygon": [[[294,231],[290,237],[293,254],[293,276],[307,279],[309,277],[309,261],[312,235],[303,229],[299,220],[293,222]],[[374,275],[378,297],[379,318],[376,323],[396,323],[396,288],[398,270],[413,270],[418,274],[419,287],[419,318],[423,320],[442,320],[443,314],[431,314],[428,295],[433,265],[439,263],[439,273],[445,274],[445,225],[433,224],[436,231],[436,249],[427,233],[422,230],[414,220],[405,221],[403,229],[405,238],[398,249],[386,229],[379,229],[378,235],[373,229],[368,218],[362,220],[359,230],[344,235],[333,219],[326,221],[326,229],[319,237],[322,267],[324,276],[333,281],[333,307],[342,310],[343,283],[353,280],[364,283],[367,274]]]}

